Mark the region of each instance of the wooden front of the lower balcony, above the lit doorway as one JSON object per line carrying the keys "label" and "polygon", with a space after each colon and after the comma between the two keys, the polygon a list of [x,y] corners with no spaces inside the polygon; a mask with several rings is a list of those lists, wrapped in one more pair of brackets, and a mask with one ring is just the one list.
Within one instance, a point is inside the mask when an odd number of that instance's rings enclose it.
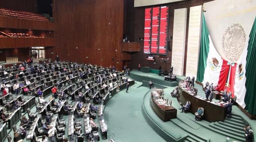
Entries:
{"label": "wooden front of the lower balcony, above the lit doorway", "polygon": [[0,49],[55,46],[55,38],[0,38]]}

